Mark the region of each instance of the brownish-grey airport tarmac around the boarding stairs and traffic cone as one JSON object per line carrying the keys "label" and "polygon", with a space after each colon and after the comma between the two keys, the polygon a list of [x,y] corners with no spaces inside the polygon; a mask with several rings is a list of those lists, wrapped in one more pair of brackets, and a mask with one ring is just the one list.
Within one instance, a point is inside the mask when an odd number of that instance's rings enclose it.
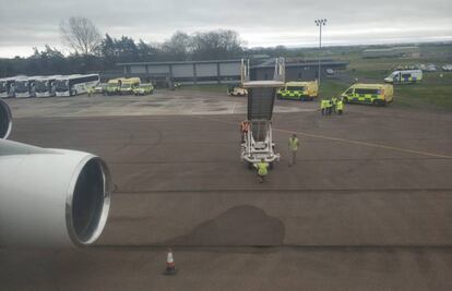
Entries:
{"label": "brownish-grey airport tarmac around the boarding stairs and traffic cone", "polygon": [[452,290],[450,113],[277,100],[282,159],[260,184],[239,157],[246,98],[7,102],[10,140],[97,154],[117,190],[96,245],[0,248],[1,290]]}

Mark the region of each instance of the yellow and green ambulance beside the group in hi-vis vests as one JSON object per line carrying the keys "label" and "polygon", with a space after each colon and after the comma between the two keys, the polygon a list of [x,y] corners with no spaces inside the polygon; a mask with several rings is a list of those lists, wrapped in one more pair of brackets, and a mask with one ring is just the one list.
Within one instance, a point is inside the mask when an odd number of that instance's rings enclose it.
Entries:
{"label": "yellow and green ambulance beside the group in hi-vis vests", "polygon": [[342,94],[344,102],[385,106],[392,102],[394,87],[390,84],[355,84]]}

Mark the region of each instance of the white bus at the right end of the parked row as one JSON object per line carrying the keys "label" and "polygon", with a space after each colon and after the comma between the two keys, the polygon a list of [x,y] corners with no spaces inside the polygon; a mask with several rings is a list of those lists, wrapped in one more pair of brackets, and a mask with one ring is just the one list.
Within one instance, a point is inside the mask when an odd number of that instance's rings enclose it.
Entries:
{"label": "white bus at the right end of the parked row", "polygon": [[86,93],[88,87],[96,86],[99,83],[99,75],[61,76],[56,83],[57,96],[74,96]]}

